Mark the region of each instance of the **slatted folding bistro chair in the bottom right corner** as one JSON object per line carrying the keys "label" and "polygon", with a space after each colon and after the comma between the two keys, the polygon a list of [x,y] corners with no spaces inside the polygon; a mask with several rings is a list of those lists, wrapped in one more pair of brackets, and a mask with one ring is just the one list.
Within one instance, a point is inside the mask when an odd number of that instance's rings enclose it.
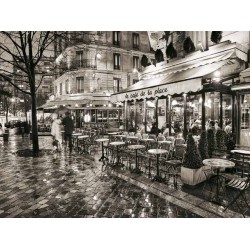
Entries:
{"label": "slatted folding bistro chair in the bottom right corner", "polygon": [[[250,206],[247,201],[246,197],[246,190],[249,188],[249,181],[250,181],[250,174],[248,171],[248,175],[245,178],[235,177],[232,178],[228,183],[225,185],[225,196],[231,197],[231,201],[228,205],[224,208],[223,211],[226,211],[230,206],[236,203],[237,207],[240,210],[240,213],[245,217],[245,213],[249,210]],[[224,197],[225,197],[224,196]],[[242,203],[240,203],[240,198],[244,201],[247,209],[243,210],[244,207]]]}

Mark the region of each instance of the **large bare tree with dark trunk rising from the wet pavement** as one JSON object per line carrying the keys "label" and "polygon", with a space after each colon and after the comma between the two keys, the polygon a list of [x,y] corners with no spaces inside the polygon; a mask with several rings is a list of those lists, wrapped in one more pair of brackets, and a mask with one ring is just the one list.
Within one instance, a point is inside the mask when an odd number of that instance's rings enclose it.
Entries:
{"label": "large bare tree with dark trunk rising from the wet pavement", "polygon": [[[0,76],[31,97],[33,156],[39,154],[36,91],[41,84],[36,83],[35,72],[45,51],[55,41],[55,34],[49,31],[0,32]],[[24,88],[14,80],[16,78],[22,79]]]}

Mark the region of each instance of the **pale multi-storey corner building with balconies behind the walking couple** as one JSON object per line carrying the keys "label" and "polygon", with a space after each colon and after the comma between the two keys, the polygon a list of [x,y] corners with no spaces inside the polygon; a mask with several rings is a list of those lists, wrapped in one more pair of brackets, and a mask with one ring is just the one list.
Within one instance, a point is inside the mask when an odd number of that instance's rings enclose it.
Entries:
{"label": "pale multi-storey corner building with balconies behind the walking couple", "polygon": [[85,115],[91,117],[85,122],[118,121],[118,116],[120,121],[119,104],[110,96],[138,81],[143,54],[154,60],[147,32],[68,32],[66,37],[55,44],[57,79],[45,108],[70,106],[77,111],[77,126]]}

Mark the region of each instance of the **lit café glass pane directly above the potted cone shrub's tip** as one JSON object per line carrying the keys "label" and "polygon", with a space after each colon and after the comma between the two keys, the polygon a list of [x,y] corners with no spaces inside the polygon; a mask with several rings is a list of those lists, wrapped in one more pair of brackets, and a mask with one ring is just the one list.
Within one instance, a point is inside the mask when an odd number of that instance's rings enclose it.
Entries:
{"label": "lit caf\u00e9 glass pane directly above the potted cone shrub's tip", "polygon": [[187,131],[190,131],[195,135],[201,133],[201,112],[201,95],[187,96]]}

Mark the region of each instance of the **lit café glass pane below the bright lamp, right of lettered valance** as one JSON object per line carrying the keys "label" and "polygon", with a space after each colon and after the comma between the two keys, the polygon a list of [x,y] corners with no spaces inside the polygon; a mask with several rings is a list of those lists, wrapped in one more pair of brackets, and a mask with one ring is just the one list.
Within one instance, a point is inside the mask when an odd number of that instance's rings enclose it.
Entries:
{"label": "lit caf\u00e9 glass pane below the bright lamp, right of lettered valance", "polygon": [[216,126],[220,124],[220,93],[209,92],[205,95],[205,121],[206,128],[210,121],[214,121]]}

